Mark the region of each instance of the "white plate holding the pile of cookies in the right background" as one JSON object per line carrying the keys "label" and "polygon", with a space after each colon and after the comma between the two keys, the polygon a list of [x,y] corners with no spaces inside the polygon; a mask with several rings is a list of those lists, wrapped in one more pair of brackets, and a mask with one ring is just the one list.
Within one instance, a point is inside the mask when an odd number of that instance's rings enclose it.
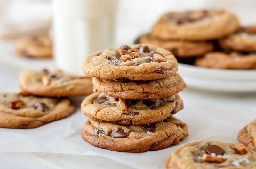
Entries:
{"label": "white plate holding the pile of cookies in the right background", "polygon": [[188,87],[227,92],[256,92],[256,70],[211,69],[179,63],[178,73]]}

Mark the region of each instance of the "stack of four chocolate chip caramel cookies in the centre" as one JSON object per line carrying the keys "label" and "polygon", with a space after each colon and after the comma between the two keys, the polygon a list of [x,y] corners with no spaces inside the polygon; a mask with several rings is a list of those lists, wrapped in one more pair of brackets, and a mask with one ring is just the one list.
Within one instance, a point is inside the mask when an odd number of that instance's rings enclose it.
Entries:
{"label": "stack of four chocolate chip caramel cookies in the centre", "polygon": [[170,51],[147,44],[109,48],[88,56],[82,69],[94,76],[95,93],[81,104],[89,117],[81,136],[88,143],[144,152],[188,135],[188,126],[172,116],[183,108],[177,93],[186,84]]}

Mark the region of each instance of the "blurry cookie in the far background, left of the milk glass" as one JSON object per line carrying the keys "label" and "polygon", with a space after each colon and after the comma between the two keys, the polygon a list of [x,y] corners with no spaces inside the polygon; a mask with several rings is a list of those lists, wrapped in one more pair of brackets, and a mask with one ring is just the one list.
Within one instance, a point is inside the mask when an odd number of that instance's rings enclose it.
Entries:
{"label": "blurry cookie in the far background, left of the milk glass", "polygon": [[51,58],[52,41],[48,37],[21,37],[15,44],[15,53],[33,58]]}

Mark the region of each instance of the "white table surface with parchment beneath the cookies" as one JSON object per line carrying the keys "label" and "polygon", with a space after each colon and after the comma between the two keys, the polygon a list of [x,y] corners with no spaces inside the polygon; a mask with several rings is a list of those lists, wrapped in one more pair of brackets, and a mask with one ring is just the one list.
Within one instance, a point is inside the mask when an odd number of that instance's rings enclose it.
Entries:
{"label": "white table surface with parchment beneath the cookies", "polygon": [[[80,65],[79,65],[80,66]],[[18,92],[23,69],[53,68],[52,60],[19,58],[12,43],[0,42],[1,92]],[[175,117],[186,122],[189,136],[180,144],[196,140],[237,142],[238,131],[256,118],[255,94],[207,92],[186,88],[180,92],[184,109]],[[178,145],[145,153],[115,152],[96,148],[81,136],[87,119],[80,109],[84,97],[72,97],[76,112],[70,117],[36,129],[0,128],[0,168],[163,168]]]}

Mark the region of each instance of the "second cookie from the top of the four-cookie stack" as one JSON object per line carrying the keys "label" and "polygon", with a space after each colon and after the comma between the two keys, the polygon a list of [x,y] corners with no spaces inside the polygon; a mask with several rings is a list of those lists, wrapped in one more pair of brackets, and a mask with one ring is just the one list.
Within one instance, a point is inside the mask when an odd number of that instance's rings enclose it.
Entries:
{"label": "second cookie from the top of the four-cookie stack", "polygon": [[94,92],[104,96],[122,99],[154,99],[175,95],[183,90],[186,84],[176,74],[159,80],[132,81],[129,79],[108,80],[93,77]]}

